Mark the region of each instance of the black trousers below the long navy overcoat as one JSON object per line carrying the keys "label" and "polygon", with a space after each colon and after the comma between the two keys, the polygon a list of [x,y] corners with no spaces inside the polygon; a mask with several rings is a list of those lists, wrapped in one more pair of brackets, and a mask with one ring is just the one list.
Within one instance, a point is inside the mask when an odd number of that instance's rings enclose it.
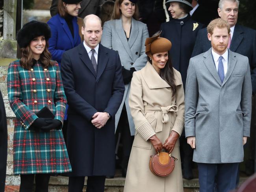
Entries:
{"label": "black trousers below the long navy overcoat", "polygon": [[[69,177],[69,192],[82,192],[85,177]],[[104,192],[106,176],[88,176],[86,192]]]}

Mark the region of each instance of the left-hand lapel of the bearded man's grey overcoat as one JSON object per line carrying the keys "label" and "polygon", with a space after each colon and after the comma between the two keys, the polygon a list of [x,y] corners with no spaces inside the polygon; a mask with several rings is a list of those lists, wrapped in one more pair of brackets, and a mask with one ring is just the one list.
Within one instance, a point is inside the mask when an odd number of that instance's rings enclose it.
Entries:
{"label": "left-hand lapel of the bearded man's grey overcoat", "polygon": [[213,76],[213,78],[220,84],[221,83],[221,79],[219,78],[219,75],[217,73],[216,67],[215,67],[215,63],[213,61],[212,55],[211,55],[211,48],[204,53],[203,57],[204,59],[204,64],[206,65],[206,67],[208,68],[208,70],[210,71],[211,75]]}

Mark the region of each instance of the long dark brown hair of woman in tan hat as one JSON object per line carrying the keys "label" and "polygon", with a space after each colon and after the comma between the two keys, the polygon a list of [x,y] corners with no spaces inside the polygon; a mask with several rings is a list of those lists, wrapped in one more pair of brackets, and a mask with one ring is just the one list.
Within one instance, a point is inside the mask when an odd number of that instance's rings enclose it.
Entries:
{"label": "long dark brown hair of woman in tan hat", "polygon": [[[152,65],[152,60],[150,59],[150,57],[148,57],[148,61]],[[165,67],[160,69],[159,76],[171,86],[173,95],[176,94],[177,86],[175,85],[173,64],[172,64],[169,52],[168,52],[168,61],[165,64]]]}

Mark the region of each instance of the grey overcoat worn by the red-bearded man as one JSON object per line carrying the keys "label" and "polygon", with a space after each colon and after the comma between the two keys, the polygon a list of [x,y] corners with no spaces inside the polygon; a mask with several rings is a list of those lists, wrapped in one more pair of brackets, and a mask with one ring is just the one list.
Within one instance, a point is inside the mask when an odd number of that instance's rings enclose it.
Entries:
{"label": "grey overcoat worn by the red-bearded man", "polygon": [[252,106],[248,58],[228,50],[228,70],[221,83],[210,48],[190,59],[186,85],[185,133],[196,137],[193,161],[242,162]]}

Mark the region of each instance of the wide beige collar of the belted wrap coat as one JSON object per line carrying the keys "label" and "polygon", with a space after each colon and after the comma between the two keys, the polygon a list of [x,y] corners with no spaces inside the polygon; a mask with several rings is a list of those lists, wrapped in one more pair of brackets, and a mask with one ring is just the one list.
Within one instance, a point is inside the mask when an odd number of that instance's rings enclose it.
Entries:
{"label": "wide beige collar of the belted wrap coat", "polygon": [[[177,72],[174,70],[175,85],[182,84],[181,78],[178,77]],[[165,80],[163,80],[156,72],[154,67],[147,62],[146,66],[141,69],[141,74],[149,89],[158,89],[164,87],[171,87]]]}

